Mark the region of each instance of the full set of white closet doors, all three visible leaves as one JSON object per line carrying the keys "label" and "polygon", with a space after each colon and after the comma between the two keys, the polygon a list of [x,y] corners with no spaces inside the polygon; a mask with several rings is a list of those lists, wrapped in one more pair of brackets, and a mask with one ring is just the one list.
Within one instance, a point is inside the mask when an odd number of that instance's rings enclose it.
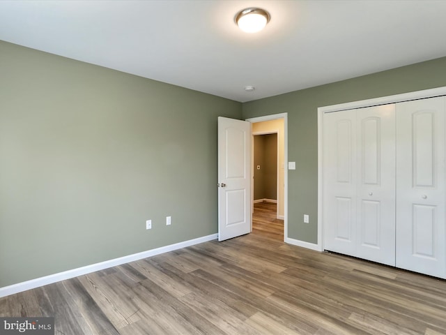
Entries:
{"label": "full set of white closet doors, all three visible leaves", "polygon": [[446,97],[323,114],[323,248],[446,278]]}

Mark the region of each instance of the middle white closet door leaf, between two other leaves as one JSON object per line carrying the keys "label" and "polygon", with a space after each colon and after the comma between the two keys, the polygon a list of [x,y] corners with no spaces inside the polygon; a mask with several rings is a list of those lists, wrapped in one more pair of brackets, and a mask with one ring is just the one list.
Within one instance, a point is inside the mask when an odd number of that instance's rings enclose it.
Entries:
{"label": "middle white closet door leaf, between two other leaves", "polygon": [[395,265],[395,105],[357,110],[357,257]]}

